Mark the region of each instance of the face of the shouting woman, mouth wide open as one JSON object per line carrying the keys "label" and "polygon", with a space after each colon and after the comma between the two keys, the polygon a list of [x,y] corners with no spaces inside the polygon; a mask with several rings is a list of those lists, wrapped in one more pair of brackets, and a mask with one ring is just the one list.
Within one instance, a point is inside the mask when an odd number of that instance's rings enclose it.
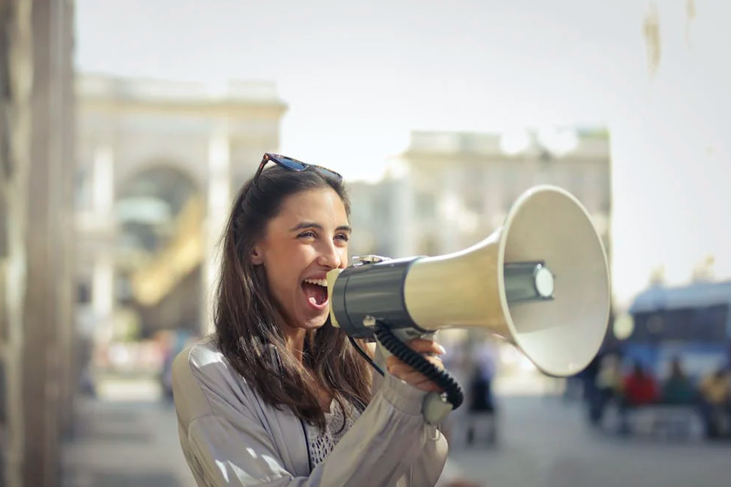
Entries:
{"label": "face of the shouting woman, mouth wide open", "polygon": [[330,188],[284,200],[269,221],[251,261],[264,266],[269,291],[291,329],[316,329],[330,310],[325,275],[347,264],[350,226],[345,206]]}

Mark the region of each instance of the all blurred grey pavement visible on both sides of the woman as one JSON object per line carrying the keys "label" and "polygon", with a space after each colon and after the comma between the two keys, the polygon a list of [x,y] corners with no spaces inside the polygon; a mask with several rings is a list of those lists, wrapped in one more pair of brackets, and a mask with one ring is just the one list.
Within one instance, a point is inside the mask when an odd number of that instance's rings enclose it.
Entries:
{"label": "all blurred grey pavement visible on both sides of the woman", "polygon": [[[99,395],[77,403],[83,421],[64,445],[64,487],[194,487],[175,412],[153,383],[108,380]],[[599,434],[578,403],[556,396],[504,397],[500,406],[499,444],[452,455],[464,476],[485,486],[729,485],[731,445]]]}

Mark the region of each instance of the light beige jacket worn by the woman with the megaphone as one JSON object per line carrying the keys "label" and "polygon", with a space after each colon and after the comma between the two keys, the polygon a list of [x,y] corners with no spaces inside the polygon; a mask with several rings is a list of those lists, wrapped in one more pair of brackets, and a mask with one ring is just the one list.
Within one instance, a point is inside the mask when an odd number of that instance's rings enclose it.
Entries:
{"label": "light beige jacket worn by the woman with the megaphone", "polygon": [[310,472],[303,423],[276,410],[205,339],[173,363],[178,432],[199,487],[430,487],[447,441],[421,413],[425,392],[375,375],[371,404]]}

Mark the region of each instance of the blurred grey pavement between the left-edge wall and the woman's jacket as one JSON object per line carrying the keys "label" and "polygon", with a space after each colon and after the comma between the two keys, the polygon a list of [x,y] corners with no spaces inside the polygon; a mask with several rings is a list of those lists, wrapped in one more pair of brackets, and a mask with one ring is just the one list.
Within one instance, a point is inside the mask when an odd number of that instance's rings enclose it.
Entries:
{"label": "blurred grey pavement between the left-edge wall and the woman's jacket", "polygon": [[[175,410],[151,380],[114,380],[77,399],[77,432],[62,448],[63,487],[194,487]],[[124,398],[124,399],[122,399]]]}

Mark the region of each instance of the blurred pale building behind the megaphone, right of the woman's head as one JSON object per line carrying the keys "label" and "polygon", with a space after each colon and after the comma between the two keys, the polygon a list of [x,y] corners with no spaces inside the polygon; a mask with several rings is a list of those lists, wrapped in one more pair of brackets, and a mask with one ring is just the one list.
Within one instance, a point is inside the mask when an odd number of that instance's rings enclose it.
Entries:
{"label": "blurred pale building behind the megaphone, right of the woman's head", "polygon": [[538,184],[577,196],[610,250],[610,150],[603,129],[414,132],[390,177],[349,185],[354,245],[390,256],[461,250],[501,226],[518,196]]}

